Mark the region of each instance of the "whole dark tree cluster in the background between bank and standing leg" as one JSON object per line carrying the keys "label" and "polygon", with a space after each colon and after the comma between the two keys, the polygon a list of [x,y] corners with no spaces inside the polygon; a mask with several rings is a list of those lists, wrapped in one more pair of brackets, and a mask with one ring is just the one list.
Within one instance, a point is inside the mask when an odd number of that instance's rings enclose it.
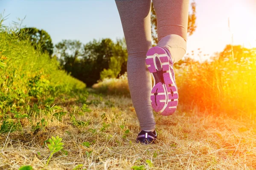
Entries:
{"label": "whole dark tree cluster in the background between bank and standing leg", "polygon": [[126,71],[127,51],[124,39],[79,41],[62,40],[55,45],[55,55],[64,70],[91,86],[99,79],[116,78]]}

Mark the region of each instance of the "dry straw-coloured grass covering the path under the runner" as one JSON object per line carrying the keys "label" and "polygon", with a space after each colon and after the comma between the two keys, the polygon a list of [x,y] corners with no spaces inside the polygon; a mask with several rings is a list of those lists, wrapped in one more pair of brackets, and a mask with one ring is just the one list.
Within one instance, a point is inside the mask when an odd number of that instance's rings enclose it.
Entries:
{"label": "dry straw-coloured grass covering the path under the runner", "polygon": [[[198,113],[196,109],[183,112],[179,106],[179,111],[172,116],[155,115],[157,144],[144,145],[135,143],[140,128],[131,99],[113,96],[100,99],[95,95],[90,95],[89,99],[101,102],[90,105],[90,113],[76,116],[79,120],[91,119],[88,126],[72,125],[70,113],[76,114],[81,108],[73,103],[66,107],[59,105],[69,113],[62,122],[51,116],[54,110],[49,113],[45,131],[34,135],[29,121],[23,119],[24,133],[1,134],[0,169],[17,170],[24,164],[35,170],[70,170],[78,164],[83,164],[87,170],[130,170],[134,165],[157,170],[256,169],[256,125],[252,120],[211,116]],[[38,122],[44,115],[47,113],[32,117],[32,121]],[[101,131],[103,122],[109,127]],[[125,125],[124,129],[120,125]],[[90,128],[95,129],[95,133]],[[130,132],[124,139],[122,136],[127,129]],[[49,150],[44,141],[57,135],[63,138],[67,155],[65,151],[55,153],[45,167]],[[82,145],[83,142],[90,142],[90,147]],[[151,167],[146,160],[151,160]]]}

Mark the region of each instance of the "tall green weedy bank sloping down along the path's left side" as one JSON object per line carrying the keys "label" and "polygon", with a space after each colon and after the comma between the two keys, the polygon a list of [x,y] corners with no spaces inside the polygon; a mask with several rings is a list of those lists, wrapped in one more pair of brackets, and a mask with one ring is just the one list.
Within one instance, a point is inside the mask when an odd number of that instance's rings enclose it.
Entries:
{"label": "tall green weedy bank sloping down along the path's left side", "polygon": [[[0,61],[6,66],[0,68],[0,132],[8,133],[23,130],[22,122],[30,121],[31,116],[45,108],[45,103],[53,104],[56,97],[73,91],[86,94],[86,85],[60,70],[57,59],[35,48],[29,38],[21,39],[27,36],[24,30],[1,25],[1,16]],[[44,123],[38,122],[33,130],[44,129]]]}

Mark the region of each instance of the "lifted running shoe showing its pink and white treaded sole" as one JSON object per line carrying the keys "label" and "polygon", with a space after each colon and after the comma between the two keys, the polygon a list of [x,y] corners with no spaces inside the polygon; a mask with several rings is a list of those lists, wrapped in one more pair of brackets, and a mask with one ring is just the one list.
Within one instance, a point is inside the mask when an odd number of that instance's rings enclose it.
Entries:
{"label": "lifted running shoe showing its pink and white treaded sole", "polygon": [[[152,108],[160,115],[172,115],[178,105],[178,92],[172,77],[168,54],[161,47],[152,47],[146,54],[146,65],[154,79],[150,97]],[[157,73],[160,77],[155,77],[153,73]],[[156,78],[160,79],[157,84],[155,84]]]}

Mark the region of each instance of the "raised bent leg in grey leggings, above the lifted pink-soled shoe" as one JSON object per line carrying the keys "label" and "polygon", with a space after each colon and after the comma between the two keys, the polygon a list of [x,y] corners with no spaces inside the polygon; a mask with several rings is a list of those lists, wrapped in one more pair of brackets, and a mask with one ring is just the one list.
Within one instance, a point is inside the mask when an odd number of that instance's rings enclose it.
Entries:
{"label": "raised bent leg in grey leggings, above the lifted pink-soled shoe", "polygon": [[186,54],[189,0],[153,0],[157,15],[157,46],[169,49],[173,62]]}

